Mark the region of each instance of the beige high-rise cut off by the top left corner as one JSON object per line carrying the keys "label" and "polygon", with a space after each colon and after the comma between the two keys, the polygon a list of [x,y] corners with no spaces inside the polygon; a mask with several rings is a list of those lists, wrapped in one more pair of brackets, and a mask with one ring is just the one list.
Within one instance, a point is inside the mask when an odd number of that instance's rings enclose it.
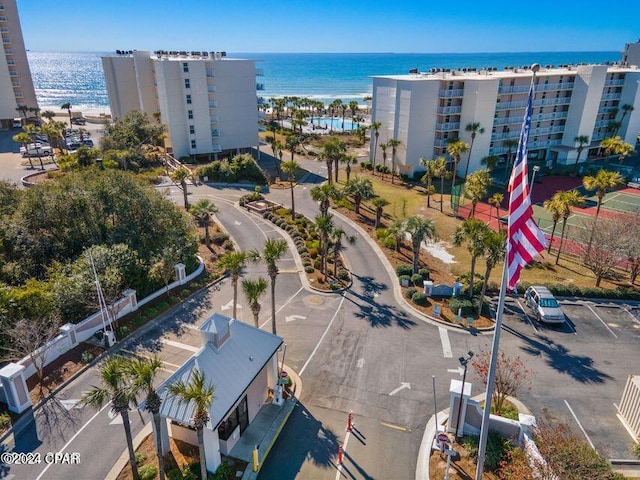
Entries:
{"label": "beige high-rise cut off by the top left corner", "polygon": [[38,106],[15,0],[0,0],[0,34],[0,126],[7,128],[18,107]]}

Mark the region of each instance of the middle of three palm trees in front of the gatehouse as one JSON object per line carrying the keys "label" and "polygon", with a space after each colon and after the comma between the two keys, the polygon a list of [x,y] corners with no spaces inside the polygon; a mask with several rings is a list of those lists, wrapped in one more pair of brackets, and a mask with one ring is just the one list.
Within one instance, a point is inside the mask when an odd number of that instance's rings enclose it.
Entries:
{"label": "middle of three palm trees in front of the gatehouse", "polygon": [[162,362],[157,356],[136,357],[127,359],[124,365],[125,371],[131,378],[133,395],[144,393],[144,409],[151,414],[155,426],[156,455],[158,457],[158,475],[164,480],[164,453],[162,451],[162,435],[160,433],[162,418],[160,417],[160,405],[162,399],[156,391],[155,383],[162,368]]}

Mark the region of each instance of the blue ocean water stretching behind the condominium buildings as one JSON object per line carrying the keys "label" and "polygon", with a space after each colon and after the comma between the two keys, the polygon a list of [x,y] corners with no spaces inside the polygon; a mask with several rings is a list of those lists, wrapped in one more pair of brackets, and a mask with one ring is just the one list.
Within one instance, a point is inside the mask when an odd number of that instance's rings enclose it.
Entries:
{"label": "blue ocean water stretching behind the condominium buildings", "polygon": [[[28,52],[40,108],[74,108],[107,113],[109,98],[100,57],[113,52]],[[408,73],[412,68],[497,67],[617,62],[619,52],[520,53],[228,53],[257,60],[264,98],[304,96],[329,103],[371,95],[372,76]]]}

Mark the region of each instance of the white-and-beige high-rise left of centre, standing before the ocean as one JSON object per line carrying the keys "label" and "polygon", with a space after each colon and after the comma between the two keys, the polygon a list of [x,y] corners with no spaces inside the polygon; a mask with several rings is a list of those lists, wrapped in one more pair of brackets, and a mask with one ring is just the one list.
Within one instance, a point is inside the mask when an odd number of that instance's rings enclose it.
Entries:
{"label": "white-and-beige high-rise left of centre, standing before the ocean", "polygon": [[102,58],[111,114],[160,115],[176,157],[237,153],[258,144],[254,60],[224,52],[116,52]]}

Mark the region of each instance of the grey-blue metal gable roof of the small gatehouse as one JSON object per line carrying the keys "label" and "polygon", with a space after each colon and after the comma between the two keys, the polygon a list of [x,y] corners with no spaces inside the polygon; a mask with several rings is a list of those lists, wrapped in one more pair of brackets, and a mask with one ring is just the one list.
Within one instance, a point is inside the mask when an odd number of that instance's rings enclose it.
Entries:
{"label": "grey-blue metal gable roof of the small gatehouse", "polygon": [[219,348],[207,342],[178,371],[159,388],[162,398],[160,414],[183,424],[191,424],[195,404],[185,404],[168,395],[167,387],[182,380],[188,382],[191,372],[197,368],[204,373],[207,382],[214,387],[214,400],[209,409],[209,428],[217,426],[240,399],[260,370],[273,357],[282,338],[238,320],[214,313],[202,324],[201,329],[220,332],[224,322],[229,325],[229,337]]}

